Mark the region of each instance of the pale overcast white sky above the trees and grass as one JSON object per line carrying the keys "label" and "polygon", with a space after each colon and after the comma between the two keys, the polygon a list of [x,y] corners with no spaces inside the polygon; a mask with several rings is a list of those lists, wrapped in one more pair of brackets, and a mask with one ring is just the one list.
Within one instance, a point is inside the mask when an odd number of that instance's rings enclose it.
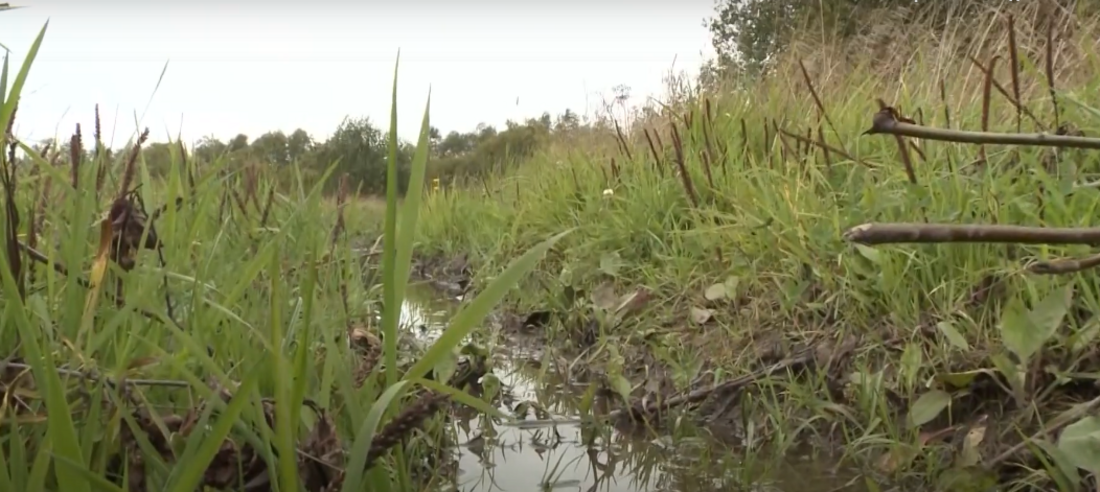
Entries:
{"label": "pale overcast white sky above the trees and grass", "polygon": [[146,127],[187,143],[298,128],[323,141],[345,117],[385,129],[398,50],[398,135],[415,141],[429,90],[446,134],[591,114],[618,85],[659,98],[670,70],[713,56],[714,0],[2,2],[24,7],[0,12],[9,78],[50,22],[16,114],[25,141],[79,122],[88,142],[97,103],[112,146]]}

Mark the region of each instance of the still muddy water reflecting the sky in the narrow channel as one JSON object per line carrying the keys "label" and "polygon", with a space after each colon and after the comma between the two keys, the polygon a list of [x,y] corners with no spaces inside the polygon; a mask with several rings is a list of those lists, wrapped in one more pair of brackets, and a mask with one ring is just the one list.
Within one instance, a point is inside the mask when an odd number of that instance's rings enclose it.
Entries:
{"label": "still muddy water reflecting the sky in the narrow channel", "polygon": [[[410,289],[411,291],[411,289]],[[419,289],[418,289],[419,291]],[[402,325],[426,343],[446,328],[451,303],[427,302],[410,292]],[[544,412],[528,409],[517,423],[488,417],[455,418],[458,462],[454,483],[444,490],[462,492],[811,492],[860,490],[861,483],[840,477],[827,464],[787,459],[760,463],[713,440],[693,436],[625,435],[615,430],[585,439],[572,406],[580,395],[561,383],[539,378],[530,353],[508,350],[496,354],[493,372],[507,392],[499,408],[512,413],[517,403],[535,402]],[[546,371],[542,372],[546,374]],[[549,414],[549,415],[548,415]],[[609,434],[609,437],[607,435]],[[591,446],[585,442],[593,442]]]}

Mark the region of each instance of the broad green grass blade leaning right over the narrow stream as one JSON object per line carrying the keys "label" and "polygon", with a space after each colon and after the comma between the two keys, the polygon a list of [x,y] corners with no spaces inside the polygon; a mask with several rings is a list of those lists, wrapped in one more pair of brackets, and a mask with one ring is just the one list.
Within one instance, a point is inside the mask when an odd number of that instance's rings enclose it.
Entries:
{"label": "broad green grass blade leaning right over the narrow stream", "polygon": [[446,356],[450,350],[454,350],[462,340],[470,335],[474,328],[477,327],[488,316],[490,311],[504,298],[505,294],[508,293],[512,287],[514,287],[527,272],[542,259],[542,255],[550,250],[561,238],[572,232],[573,229],[560,232],[554,237],[542,241],[540,244],[531,248],[522,256],[519,256],[512,262],[510,265],[493,280],[493,283],[488,284],[476,298],[470,304],[463,306],[462,310],[451,318],[450,325],[443,330],[439,339],[431,345],[431,348],[420,357],[405,375],[402,378],[405,381],[413,379],[424,378],[431,368],[439,363],[440,359]]}

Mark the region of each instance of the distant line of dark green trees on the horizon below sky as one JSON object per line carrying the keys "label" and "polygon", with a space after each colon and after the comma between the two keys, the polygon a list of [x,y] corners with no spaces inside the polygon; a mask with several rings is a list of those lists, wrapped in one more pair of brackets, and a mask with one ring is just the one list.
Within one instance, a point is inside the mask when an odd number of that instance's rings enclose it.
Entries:
{"label": "distant line of dark green trees on the horizon below sky", "polygon": [[[503,173],[538,152],[551,136],[585,124],[575,112],[565,110],[557,118],[543,113],[524,122],[507,121],[505,128],[499,130],[482,123],[470,132],[451,131],[444,135],[432,127],[429,133],[431,158],[428,177],[451,183]],[[243,133],[228,141],[208,136],[188,150],[187,158],[199,165],[223,162],[229,168],[255,166],[288,186],[297,179],[292,172],[295,168],[307,185],[311,185],[330,165],[338,163],[333,176],[346,174],[352,190],[358,189],[362,195],[384,195],[389,158],[387,133],[369,118],[348,118],[323,141],[316,140],[301,129],[289,134],[271,131],[252,140]],[[51,141],[42,145],[53,147]],[[90,145],[85,143],[85,146],[86,158],[90,160],[91,154],[87,150]],[[67,162],[69,149],[69,142],[63,141],[51,153]],[[407,187],[415,151],[415,143],[399,142],[397,170],[403,192]],[[179,162],[179,144],[146,143],[142,147],[142,158],[152,176],[164,176],[174,160]],[[339,179],[330,178],[324,186],[327,193],[332,193],[339,186]]]}

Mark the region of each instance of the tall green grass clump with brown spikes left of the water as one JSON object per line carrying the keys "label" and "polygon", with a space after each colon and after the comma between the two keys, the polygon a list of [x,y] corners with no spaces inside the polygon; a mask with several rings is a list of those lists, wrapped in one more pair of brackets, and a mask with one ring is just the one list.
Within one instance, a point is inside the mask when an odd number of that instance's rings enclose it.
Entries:
{"label": "tall green grass clump with brown spikes left of the water", "polygon": [[[0,331],[0,489],[411,490],[425,479],[414,475],[414,458],[435,450],[402,442],[444,402],[504,417],[429,372],[454,365],[463,339],[568,231],[512,262],[424,353],[399,357],[429,118],[426,106],[409,189],[398,204],[396,67],[377,265],[373,253],[353,253],[352,238],[341,233],[360,223],[324,207],[320,189],[333,167],[309,189],[296,170],[297,196],[276,196],[263,176],[239,176],[224,162],[189,163],[180,147],[156,182],[138,152],[147,131],[114,163],[99,152],[98,117],[95,158],[74,151],[67,170],[53,165],[10,132],[45,33],[43,26],[10,89],[7,57],[0,74],[0,128],[9,129],[0,147],[10,150],[0,157],[0,303],[11,327]],[[74,147],[80,140],[77,129]],[[22,181],[15,149],[34,168]],[[105,178],[119,168],[120,193],[101,203]],[[47,200],[43,182],[68,186]],[[239,214],[227,211],[230,197]],[[341,206],[345,199],[342,193]],[[145,201],[174,206],[147,212]],[[22,210],[41,220],[20,220]],[[96,227],[100,234],[89,234]],[[29,262],[51,267],[29,270]],[[382,364],[356,384],[360,361],[348,337],[358,319],[371,318],[358,306],[377,292],[361,282],[364,262],[381,278],[385,308],[381,326],[358,329],[384,347]],[[116,288],[101,289],[112,281]]]}

